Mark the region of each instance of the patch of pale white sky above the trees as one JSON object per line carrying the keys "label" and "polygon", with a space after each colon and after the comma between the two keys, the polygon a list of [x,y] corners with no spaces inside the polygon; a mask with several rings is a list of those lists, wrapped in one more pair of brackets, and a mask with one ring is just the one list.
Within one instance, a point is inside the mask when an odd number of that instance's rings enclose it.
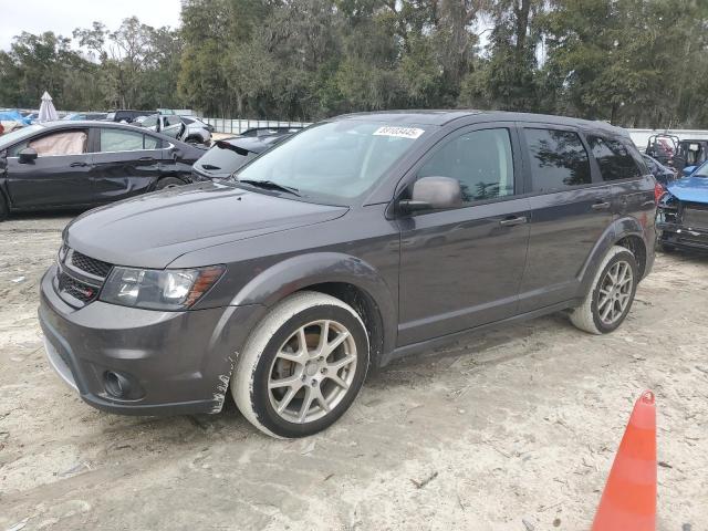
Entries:
{"label": "patch of pale white sky above the trees", "polygon": [[72,37],[75,28],[91,28],[94,20],[110,30],[133,15],[156,28],[177,28],[179,9],[179,0],[0,0],[0,50],[9,50],[22,31]]}

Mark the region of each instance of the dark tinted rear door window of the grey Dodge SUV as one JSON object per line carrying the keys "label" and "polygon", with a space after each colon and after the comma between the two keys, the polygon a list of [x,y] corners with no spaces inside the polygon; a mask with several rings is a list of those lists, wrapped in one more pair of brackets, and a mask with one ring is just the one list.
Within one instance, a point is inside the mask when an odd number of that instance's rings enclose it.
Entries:
{"label": "dark tinted rear door window of the grey Dodge SUV", "polygon": [[576,133],[524,129],[533,191],[563,190],[592,181],[587,152]]}

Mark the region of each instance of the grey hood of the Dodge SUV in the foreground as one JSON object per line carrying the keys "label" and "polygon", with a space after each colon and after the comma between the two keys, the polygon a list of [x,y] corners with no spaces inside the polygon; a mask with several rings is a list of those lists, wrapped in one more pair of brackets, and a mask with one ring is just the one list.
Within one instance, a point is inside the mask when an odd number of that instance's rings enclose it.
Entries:
{"label": "grey hood of the Dodge SUV in the foreground", "polygon": [[64,241],[113,264],[163,269],[187,252],[321,223],[346,211],[202,183],[91,210],[66,227]]}

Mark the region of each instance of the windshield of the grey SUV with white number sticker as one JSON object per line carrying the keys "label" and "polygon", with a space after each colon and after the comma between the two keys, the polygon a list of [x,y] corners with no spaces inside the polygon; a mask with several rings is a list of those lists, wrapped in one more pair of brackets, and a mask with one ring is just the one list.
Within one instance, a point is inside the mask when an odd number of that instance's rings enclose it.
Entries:
{"label": "windshield of the grey SUV with white number sticker", "polygon": [[309,127],[243,167],[236,178],[348,204],[379,181],[425,133],[417,126],[344,119]]}

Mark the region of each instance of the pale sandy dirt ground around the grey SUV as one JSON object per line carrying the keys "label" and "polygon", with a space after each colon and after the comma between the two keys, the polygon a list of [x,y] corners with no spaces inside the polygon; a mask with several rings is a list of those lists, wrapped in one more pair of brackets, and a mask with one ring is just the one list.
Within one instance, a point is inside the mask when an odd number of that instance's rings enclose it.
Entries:
{"label": "pale sandy dirt ground around the grey SUV", "polygon": [[0,223],[0,529],[589,529],[654,389],[658,529],[708,529],[708,258],[659,254],[627,322],[552,315],[369,376],[308,439],[216,416],[121,417],[44,360],[38,283],[66,217]]}

